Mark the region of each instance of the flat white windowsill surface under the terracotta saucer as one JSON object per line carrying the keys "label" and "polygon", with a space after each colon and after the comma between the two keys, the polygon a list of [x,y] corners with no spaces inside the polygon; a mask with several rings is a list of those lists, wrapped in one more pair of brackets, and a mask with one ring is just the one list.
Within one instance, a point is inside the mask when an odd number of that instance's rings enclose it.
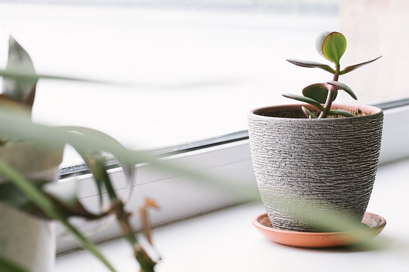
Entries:
{"label": "flat white windowsill surface under the terracotta saucer", "polygon": [[[245,204],[154,229],[154,243],[163,258],[157,271],[403,271],[409,266],[407,167],[409,159],[378,169],[368,207],[387,220],[374,238],[378,246],[307,250],[272,243],[251,224],[264,212],[262,204]],[[137,271],[123,239],[101,243],[100,248],[118,271]],[[77,251],[58,257],[56,271],[107,269],[88,252]]]}

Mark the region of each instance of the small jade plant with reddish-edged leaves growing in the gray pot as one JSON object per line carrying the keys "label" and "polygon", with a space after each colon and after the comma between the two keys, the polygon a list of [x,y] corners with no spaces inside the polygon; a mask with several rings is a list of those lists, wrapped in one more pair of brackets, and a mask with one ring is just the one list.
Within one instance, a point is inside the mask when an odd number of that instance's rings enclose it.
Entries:
{"label": "small jade plant with reddish-edged leaves growing in the gray pot", "polygon": [[334,68],[327,64],[315,61],[297,59],[287,59],[287,61],[301,67],[321,68],[332,73],[332,80],[324,83],[314,83],[305,87],[302,91],[303,95],[285,93],[283,96],[305,102],[315,107],[316,111],[314,112],[311,112],[304,106],[302,107],[302,111],[307,118],[327,118],[329,116],[354,117],[355,114],[352,112],[343,109],[331,109],[332,102],[335,100],[338,90],[345,91],[352,98],[354,98],[354,100],[357,100],[357,97],[352,89],[345,83],[339,82],[338,78],[339,76],[345,75],[350,71],[371,63],[382,56],[362,63],[347,66],[341,70],[339,60],[344,55],[347,48],[347,40],[343,34],[339,32],[325,31],[316,38],[315,47],[317,52],[322,57],[331,61],[335,65]]}

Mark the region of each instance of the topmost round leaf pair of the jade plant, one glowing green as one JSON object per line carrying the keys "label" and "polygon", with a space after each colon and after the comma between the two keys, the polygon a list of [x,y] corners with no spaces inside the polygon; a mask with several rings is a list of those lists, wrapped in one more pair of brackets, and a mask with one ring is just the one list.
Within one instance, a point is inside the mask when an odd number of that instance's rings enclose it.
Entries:
{"label": "topmost round leaf pair of the jade plant, one glowing green", "polygon": [[339,32],[325,31],[317,37],[315,47],[321,56],[339,65],[347,48],[347,39]]}

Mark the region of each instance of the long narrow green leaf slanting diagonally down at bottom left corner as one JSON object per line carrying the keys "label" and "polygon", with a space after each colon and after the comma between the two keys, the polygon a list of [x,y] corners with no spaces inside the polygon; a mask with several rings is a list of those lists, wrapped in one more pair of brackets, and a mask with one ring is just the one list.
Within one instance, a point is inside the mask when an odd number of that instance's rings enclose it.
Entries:
{"label": "long narrow green leaf slanting diagonally down at bottom left corner", "polygon": [[54,207],[53,203],[47,198],[47,196],[33,186],[29,181],[27,181],[18,172],[14,171],[11,167],[0,161],[0,172],[5,175],[11,182],[23,191],[29,199],[34,202],[45,214],[50,218],[59,220],[64,227],[70,231],[81,244],[95,257],[97,257],[105,266],[115,272],[115,268],[108,262],[108,260],[102,255],[102,253],[96,248],[96,246],[89,241],[85,236],[83,236],[74,226],[70,224],[69,221]]}

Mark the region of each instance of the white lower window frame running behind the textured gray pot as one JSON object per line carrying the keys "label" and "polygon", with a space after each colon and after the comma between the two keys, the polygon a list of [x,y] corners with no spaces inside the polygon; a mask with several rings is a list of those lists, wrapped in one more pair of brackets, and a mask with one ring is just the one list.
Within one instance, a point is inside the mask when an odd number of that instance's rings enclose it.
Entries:
{"label": "white lower window frame running behind the textured gray pot", "polygon": [[[392,105],[392,106],[391,106]],[[409,157],[409,122],[405,120],[409,116],[409,100],[401,100],[394,104],[379,105],[384,109],[384,123],[382,135],[382,147],[380,152],[380,164],[389,163]],[[237,186],[247,185],[256,189],[253,173],[253,165],[249,149],[249,141],[246,132],[236,133],[237,140],[221,138],[222,143],[215,140],[204,147],[187,145],[185,150],[173,150],[178,154],[163,157],[169,163],[176,163],[194,169],[201,174],[213,177],[224,177],[226,181],[233,182]],[[133,211],[131,217],[135,230],[140,230],[137,208],[141,205],[144,197],[154,199],[162,207],[161,211],[150,212],[152,226],[167,224],[168,222],[206,213],[223,207],[243,203],[249,200],[249,195],[236,194],[212,186],[203,181],[195,181],[194,178],[184,174],[163,171],[152,165],[141,163],[135,166],[137,169],[136,180],[133,185],[133,193],[127,202],[127,207]],[[80,171],[84,171],[78,166]],[[64,171],[64,169],[62,169]],[[67,169],[65,169],[66,171]],[[118,193],[127,191],[122,169],[117,167],[109,170],[110,177],[115,184]],[[81,184],[80,199],[85,205],[96,208],[98,204],[98,191],[94,185],[92,175],[84,174],[78,177],[61,179],[60,182],[78,180]],[[95,233],[100,225],[106,225]],[[98,242],[120,236],[120,230],[116,224],[106,222],[82,222],[80,229],[89,233],[90,239]],[[57,252],[62,253],[78,248],[78,244],[72,238],[59,239]]]}

